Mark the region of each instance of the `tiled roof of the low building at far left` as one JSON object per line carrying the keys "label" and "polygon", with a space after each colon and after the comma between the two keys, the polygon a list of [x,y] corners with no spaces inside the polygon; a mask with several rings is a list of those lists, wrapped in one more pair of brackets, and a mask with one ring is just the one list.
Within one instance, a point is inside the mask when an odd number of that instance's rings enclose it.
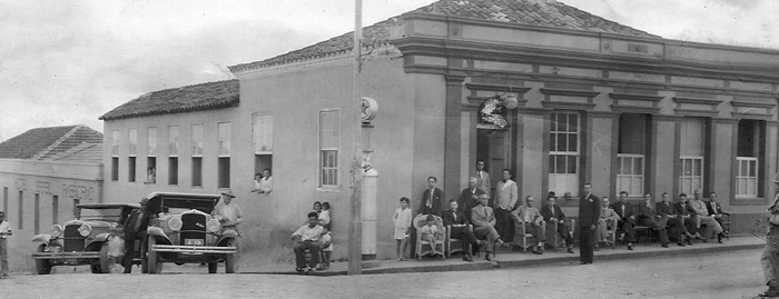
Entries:
{"label": "tiled roof of the low building at far left", "polygon": [[81,143],[102,143],[102,133],[76,124],[27,130],[0,143],[2,159],[42,160]]}

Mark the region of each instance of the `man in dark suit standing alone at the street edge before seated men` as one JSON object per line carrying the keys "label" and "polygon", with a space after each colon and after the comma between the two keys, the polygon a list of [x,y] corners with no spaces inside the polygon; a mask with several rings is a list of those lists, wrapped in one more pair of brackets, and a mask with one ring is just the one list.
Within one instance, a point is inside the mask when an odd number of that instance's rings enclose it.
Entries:
{"label": "man in dark suit standing alone at the street edge before seated men", "polygon": [[579,256],[581,265],[592,263],[595,248],[595,228],[601,211],[601,199],[592,195],[592,185],[584,183],[579,199]]}

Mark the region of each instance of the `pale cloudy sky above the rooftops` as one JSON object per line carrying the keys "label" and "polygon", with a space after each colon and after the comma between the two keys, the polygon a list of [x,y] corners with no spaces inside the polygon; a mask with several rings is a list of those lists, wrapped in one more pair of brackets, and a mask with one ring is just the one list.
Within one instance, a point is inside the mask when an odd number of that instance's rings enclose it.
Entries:
{"label": "pale cloudy sky above the rooftops", "polygon": [[[433,0],[363,0],[365,26]],[[779,1],[560,0],[667,39],[779,50]],[[0,0],[0,141],[354,29],[351,0]]]}

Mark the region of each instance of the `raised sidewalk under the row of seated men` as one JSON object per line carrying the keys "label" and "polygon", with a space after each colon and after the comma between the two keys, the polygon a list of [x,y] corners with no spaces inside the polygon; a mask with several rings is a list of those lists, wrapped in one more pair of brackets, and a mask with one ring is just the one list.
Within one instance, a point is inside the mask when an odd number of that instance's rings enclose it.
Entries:
{"label": "raised sidewalk under the row of seated men", "polygon": [[[743,249],[760,249],[766,241],[753,236],[731,237],[730,240],[722,240],[723,243],[718,243],[717,240],[709,242],[697,241],[693,246],[678,247],[676,243],[670,243],[669,248],[660,247],[660,243],[637,243],[634,250],[630,251],[625,246],[611,247],[601,246],[599,251],[595,251],[595,263],[603,260],[614,259],[637,259],[661,256],[681,256],[681,255],[700,255],[707,252],[733,251]],[[517,251],[519,250],[519,251]],[[507,249],[497,251],[493,261],[487,261],[482,255],[481,258],[474,257],[474,262],[462,260],[462,256],[453,255],[450,259],[441,260],[434,258],[423,258],[422,261],[416,259],[408,261],[382,260],[381,266],[374,268],[363,268],[364,275],[377,273],[403,273],[403,272],[440,272],[440,271],[472,271],[487,270],[496,268],[512,267],[532,267],[549,263],[566,263],[579,266],[579,249],[574,248],[574,253],[566,253],[564,248],[556,250],[548,249],[543,255],[533,255],[530,250],[523,252],[521,249],[515,249],[509,252]],[[290,252],[292,255],[292,252]],[[345,276],[347,269],[346,262],[333,262],[328,270],[312,271],[312,276]],[[295,271],[295,266],[288,265],[262,265],[262,266],[241,266],[241,273],[262,273],[262,275],[300,275]],[[305,272],[303,275],[306,275]]]}

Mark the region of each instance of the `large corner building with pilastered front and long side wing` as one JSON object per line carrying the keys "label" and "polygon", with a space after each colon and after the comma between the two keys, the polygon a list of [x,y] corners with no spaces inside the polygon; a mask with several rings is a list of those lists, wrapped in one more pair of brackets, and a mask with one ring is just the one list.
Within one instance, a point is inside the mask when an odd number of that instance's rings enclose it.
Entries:
{"label": "large corner building with pilastered front and long side wing", "polygon": [[[333,257],[346,257],[361,136],[379,173],[379,259],[394,257],[398,199],[416,213],[427,177],[456,198],[476,160],[493,188],[507,168],[522,197],[570,193],[559,202],[572,217],[584,182],[637,201],[701,189],[732,213],[732,233],[750,233],[775,196],[779,51],[668,40],[555,1],[442,0],[364,34],[362,94],[379,107],[369,133],[346,33],[105,114],[106,195],[230,188],[256,262],[292,260],[289,233],[314,201],[333,207]],[[265,168],[274,191],[250,193]]]}

